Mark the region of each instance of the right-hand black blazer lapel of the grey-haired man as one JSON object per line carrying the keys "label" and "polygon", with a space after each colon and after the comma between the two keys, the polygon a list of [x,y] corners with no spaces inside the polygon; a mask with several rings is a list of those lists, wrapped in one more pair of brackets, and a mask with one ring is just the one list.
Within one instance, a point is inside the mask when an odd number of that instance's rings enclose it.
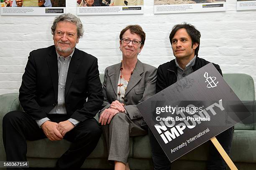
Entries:
{"label": "right-hand black blazer lapel of the grey-haired man", "polygon": [[77,50],[77,48],[75,48],[73,56],[71,57],[71,60],[69,63],[69,70],[67,73],[67,80],[65,85],[65,98],[72,84],[74,76],[77,74],[77,70],[81,63],[82,63],[81,56],[79,55],[79,51]]}

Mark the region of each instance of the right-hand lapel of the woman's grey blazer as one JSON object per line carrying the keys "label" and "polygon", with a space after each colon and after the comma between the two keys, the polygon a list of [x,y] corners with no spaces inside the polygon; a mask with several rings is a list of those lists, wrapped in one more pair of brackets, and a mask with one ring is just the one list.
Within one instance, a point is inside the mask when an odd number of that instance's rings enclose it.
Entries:
{"label": "right-hand lapel of the woman's grey blazer", "polygon": [[131,89],[133,89],[133,87],[136,86],[136,84],[138,84],[138,82],[141,80],[142,73],[143,73],[143,66],[141,61],[138,60],[136,63],[135,69],[133,70],[133,74],[131,75],[131,79],[127,85],[125,95],[127,95],[129,91],[131,91]]}

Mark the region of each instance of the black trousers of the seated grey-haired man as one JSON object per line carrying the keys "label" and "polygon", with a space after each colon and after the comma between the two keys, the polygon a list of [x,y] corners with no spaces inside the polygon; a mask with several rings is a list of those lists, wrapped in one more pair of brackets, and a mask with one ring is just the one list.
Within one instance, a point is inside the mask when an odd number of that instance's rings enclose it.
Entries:
{"label": "black trousers of the seated grey-haired man", "polygon": [[[56,123],[69,119],[67,115],[63,114],[49,114],[48,117]],[[72,142],[72,144],[69,150],[59,158],[56,167],[58,169],[81,167],[85,158],[96,147],[100,136],[101,129],[96,119],[90,118],[80,122],[74,129],[65,134],[64,139]],[[12,111],[3,118],[3,143],[7,161],[26,161],[26,140],[33,141],[43,138],[46,138],[43,130],[28,114]],[[17,169],[14,168],[14,170]]]}

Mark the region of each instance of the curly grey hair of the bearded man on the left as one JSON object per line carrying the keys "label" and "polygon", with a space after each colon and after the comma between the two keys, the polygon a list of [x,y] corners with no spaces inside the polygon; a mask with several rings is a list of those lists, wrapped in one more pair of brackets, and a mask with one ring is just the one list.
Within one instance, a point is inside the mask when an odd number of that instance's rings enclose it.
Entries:
{"label": "curly grey hair of the bearded man on the left", "polygon": [[71,13],[59,15],[54,19],[54,22],[51,25],[52,35],[54,35],[54,33],[55,33],[57,23],[60,21],[64,21],[64,20],[67,20],[67,21],[70,21],[70,22],[76,24],[77,25],[77,38],[82,38],[82,36],[84,34],[83,24],[82,24],[81,20],[79,18],[77,18],[76,15],[73,15]]}

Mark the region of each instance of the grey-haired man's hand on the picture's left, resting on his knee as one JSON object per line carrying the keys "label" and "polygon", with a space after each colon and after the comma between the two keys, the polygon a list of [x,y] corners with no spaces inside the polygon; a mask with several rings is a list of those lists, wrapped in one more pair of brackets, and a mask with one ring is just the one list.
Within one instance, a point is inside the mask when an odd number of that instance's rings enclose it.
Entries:
{"label": "grey-haired man's hand on the picture's left, resting on his knee", "polygon": [[63,139],[63,136],[58,131],[57,126],[58,124],[56,122],[51,122],[49,120],[41,124],[44,134],[51,141]]}

